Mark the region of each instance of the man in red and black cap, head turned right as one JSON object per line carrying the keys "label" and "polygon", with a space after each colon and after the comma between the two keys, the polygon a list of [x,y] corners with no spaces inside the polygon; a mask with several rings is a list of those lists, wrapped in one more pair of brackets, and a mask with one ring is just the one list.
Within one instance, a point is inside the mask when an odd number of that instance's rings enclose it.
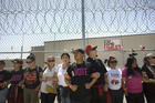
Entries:
{"label": "man in red and black cap, head turned right", "polygon": [[[87,54],[86,62],[90,63],[91,74],[100,75],[92,89],[92,102],[91,103],[106,103],[106,69],[102,60],[97,59],[97,47],[86,45],[85,53]],[[103,91],[104,90],[104,91]]]}

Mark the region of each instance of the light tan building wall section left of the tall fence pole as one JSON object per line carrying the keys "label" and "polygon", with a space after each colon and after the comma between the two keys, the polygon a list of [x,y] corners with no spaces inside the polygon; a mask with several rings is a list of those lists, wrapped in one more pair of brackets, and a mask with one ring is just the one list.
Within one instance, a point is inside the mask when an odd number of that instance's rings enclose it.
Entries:
{"label": "light tan building wall section left of the tall fence pole", "polygon": [[[82,47],[82,40],[66,40],[66,41],[55,41],[55,42],[45,42],[44,51],[51,52],[44,54],[44,61],[46,61],[46,56],[52,54],[56,58],[56,64],[61,62],[61,54],[63,52],[68,52],[71,54],[72,49],[78,49]],[[73,61],[73,55],[71,54],[71,61]]]}

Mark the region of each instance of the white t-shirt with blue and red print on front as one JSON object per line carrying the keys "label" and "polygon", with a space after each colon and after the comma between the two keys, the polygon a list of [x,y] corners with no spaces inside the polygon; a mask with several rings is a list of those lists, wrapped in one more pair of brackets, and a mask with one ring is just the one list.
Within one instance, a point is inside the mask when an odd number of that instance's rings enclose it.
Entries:
{"label": "white t-shirt with blue and red print on front", "polygon": [[120,69],[111,69],[107,71],[108,87],[111,90],[120,90],[122,80],[122,71]]}

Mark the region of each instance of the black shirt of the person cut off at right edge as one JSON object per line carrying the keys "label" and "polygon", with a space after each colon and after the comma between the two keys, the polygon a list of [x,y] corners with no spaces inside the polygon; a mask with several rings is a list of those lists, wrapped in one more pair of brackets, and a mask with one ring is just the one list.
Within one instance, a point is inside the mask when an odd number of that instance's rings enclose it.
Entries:
{"label": "black shirt of the person cut off at right edge", "polygon": [[[155,71],[155,66],[151,66]],[[143,65],[142,68],[143,72],[146,72],[148,79],[155,79],[153,73],[149,71],[147,65]],[[143,83],[144,92],[148,92],[149,94],[155,95],[155,83]]]}

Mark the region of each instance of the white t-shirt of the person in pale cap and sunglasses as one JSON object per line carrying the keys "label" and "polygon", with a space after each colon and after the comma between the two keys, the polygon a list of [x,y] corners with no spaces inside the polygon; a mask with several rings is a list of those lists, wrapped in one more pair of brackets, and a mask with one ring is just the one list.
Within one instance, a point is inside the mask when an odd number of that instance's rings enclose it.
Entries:
{"label": "white t-shirt of the person in pale cap and sunglasses", "polygon": [[43,72],[43,79],[48,78],[49,80],[46,82],[42,82],[42,84],[41,84],[41,92],[42,93],[48,93],[45,91],[46,85],[53,86],[52,81],[50,79],[53,76],[53,74],[55,72],[56,72],[55,68],[53,68],[51,70],[49,68],[46,68],[45,71]]}

